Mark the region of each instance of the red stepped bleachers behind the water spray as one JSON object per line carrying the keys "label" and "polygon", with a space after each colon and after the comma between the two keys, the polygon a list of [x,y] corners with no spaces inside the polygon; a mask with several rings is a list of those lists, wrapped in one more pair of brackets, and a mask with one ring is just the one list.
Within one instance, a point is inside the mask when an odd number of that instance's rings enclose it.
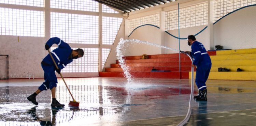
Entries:
{"label": "red stepped bleachers behind the water spray", "polygon": [[[215,55],[216,51],[210,51],[210,55]],[[191,60],[185,54],[180,55],[181,71],[179,71],[179,53],[148,55],[148,59],[141,59],[141,56],[124,57],[129,72],[134,78],[169,78],[188,79],[191,71]],[[155,67],[157,70],[169,70],[170,72],[151,72]],[[195,70],[195,69],[194,69]],[[111,64],[110,68],[105,68],[105,72],[99,72],[100,77],[124,77],[123,69],[118,61]]]}

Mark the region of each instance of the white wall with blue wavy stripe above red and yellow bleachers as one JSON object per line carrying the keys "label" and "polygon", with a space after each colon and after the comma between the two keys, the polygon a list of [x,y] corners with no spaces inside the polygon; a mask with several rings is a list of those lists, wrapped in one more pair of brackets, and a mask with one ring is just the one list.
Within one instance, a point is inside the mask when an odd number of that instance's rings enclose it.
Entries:
{"label": "white wall with blue wavy stripe above red and yellow bleachers", "polygon": [[[256,48],[256,6],[245,7],[231,13],[213,25],[214,45],[222,45],[224,49],[245,49]],[[131,15],[142,16],[142,14]],[[180,29],[180,37],[186,38],[188,35],[195,35],[203,30],[207,25]],[[178,30],[169,30],[170,34],[178,37]],[[179,49],[179,40],[164,32],[164,46]],[[209,27],[196,36],[197,41],[201,42],[205,49],[210,50]],[[133,31],[128,39],[138,39],[151,43],[161,44],[161,31],[153,26],[142,26]],[[215,49],[214,47],[211,47]],[[180,40],[180,50],[190,51],[187,40]],[[177,51],[167,50],[164,53],[178,53]],[[139,56],[141,54],[160,54],[157,47],[148,47],[140,44],[133,44],[126,49],[126,56]]]}

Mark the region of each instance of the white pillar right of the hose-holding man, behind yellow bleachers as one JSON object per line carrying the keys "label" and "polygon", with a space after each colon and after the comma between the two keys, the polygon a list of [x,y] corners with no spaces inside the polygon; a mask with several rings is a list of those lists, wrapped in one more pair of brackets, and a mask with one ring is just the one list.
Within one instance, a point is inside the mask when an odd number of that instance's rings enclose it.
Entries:
{"label": "white pillar right of the hose-holding man, behind yellow bleachers", "polygon": [[214,0],[208,0],[208,49],[213,50],[214,47]]}

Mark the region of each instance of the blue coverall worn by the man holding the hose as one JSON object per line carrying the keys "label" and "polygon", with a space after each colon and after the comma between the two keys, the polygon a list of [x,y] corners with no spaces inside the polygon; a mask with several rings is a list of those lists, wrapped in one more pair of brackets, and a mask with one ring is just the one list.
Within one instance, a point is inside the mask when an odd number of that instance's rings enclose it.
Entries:
{"label": "blue coverall worn by the man holding the hose", "polygon": [[196,65],[196,85],[198,90],[206,89],[205,82],[208,79],[212,62],[202,43],[195,41],[191,46],[191,55]]}

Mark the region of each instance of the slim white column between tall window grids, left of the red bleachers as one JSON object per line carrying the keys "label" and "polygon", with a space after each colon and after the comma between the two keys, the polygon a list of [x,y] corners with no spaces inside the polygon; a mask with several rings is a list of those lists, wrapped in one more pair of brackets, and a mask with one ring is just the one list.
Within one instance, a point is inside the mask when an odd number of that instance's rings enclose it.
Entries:
{"label": "slim white column between tall window grids, left of the red bleachers", "polygon": [[99,3],[99,72],[102,72],[102,4]]}

